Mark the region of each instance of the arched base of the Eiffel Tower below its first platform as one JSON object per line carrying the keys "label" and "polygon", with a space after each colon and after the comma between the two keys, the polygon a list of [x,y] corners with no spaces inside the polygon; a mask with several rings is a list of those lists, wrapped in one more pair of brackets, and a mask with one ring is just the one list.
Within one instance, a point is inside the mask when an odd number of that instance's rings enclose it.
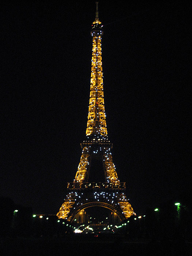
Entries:
{"label": "arched base of the Eiffel Tower below its first platform", "polygon": [[[106,208],[113,212],[114,216],[117,215],[121,222],[135,214],[123,191],[79,189],[68,193],[57,217],[73,222],[76,216],[83,215],[83,210],[91,207]],[[80,221],[82,222],[82,220]]]}

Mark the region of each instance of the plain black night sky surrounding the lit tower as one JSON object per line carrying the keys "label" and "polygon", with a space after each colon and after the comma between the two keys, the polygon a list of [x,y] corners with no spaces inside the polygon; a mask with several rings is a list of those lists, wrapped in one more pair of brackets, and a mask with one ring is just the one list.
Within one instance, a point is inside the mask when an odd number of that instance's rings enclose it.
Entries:
{"label": "plain black night sky surrounding the lit tower", "polygon": [[[191,5],[144,2],[99,2],[108,135],[136,214],[191,191]],[[56,214],[86,139],[95,1],[11,1],[0,17],[0,196]]]}

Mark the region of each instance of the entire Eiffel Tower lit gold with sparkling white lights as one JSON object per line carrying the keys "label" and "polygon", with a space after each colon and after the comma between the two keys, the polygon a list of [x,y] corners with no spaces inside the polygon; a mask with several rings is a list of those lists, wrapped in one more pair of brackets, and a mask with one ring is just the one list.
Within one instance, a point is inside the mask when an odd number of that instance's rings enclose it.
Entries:
{"label": "entire Eiffel Tower lit gold with sparkling white lights", "polygon": [[113,144],[108,140],[103,96],[102,35],[96,2],[96,15],[91,29],[93,50],[87,139],[80,144],[82,155],[78,170],[74,182],[67,184],[68,195],[57,213],[58,218],[69,222],[83,214],[84,209],[93,206],[108,208],[122,222],[135,214],[125,195],[125,182],[118,179],[111,153]]}

